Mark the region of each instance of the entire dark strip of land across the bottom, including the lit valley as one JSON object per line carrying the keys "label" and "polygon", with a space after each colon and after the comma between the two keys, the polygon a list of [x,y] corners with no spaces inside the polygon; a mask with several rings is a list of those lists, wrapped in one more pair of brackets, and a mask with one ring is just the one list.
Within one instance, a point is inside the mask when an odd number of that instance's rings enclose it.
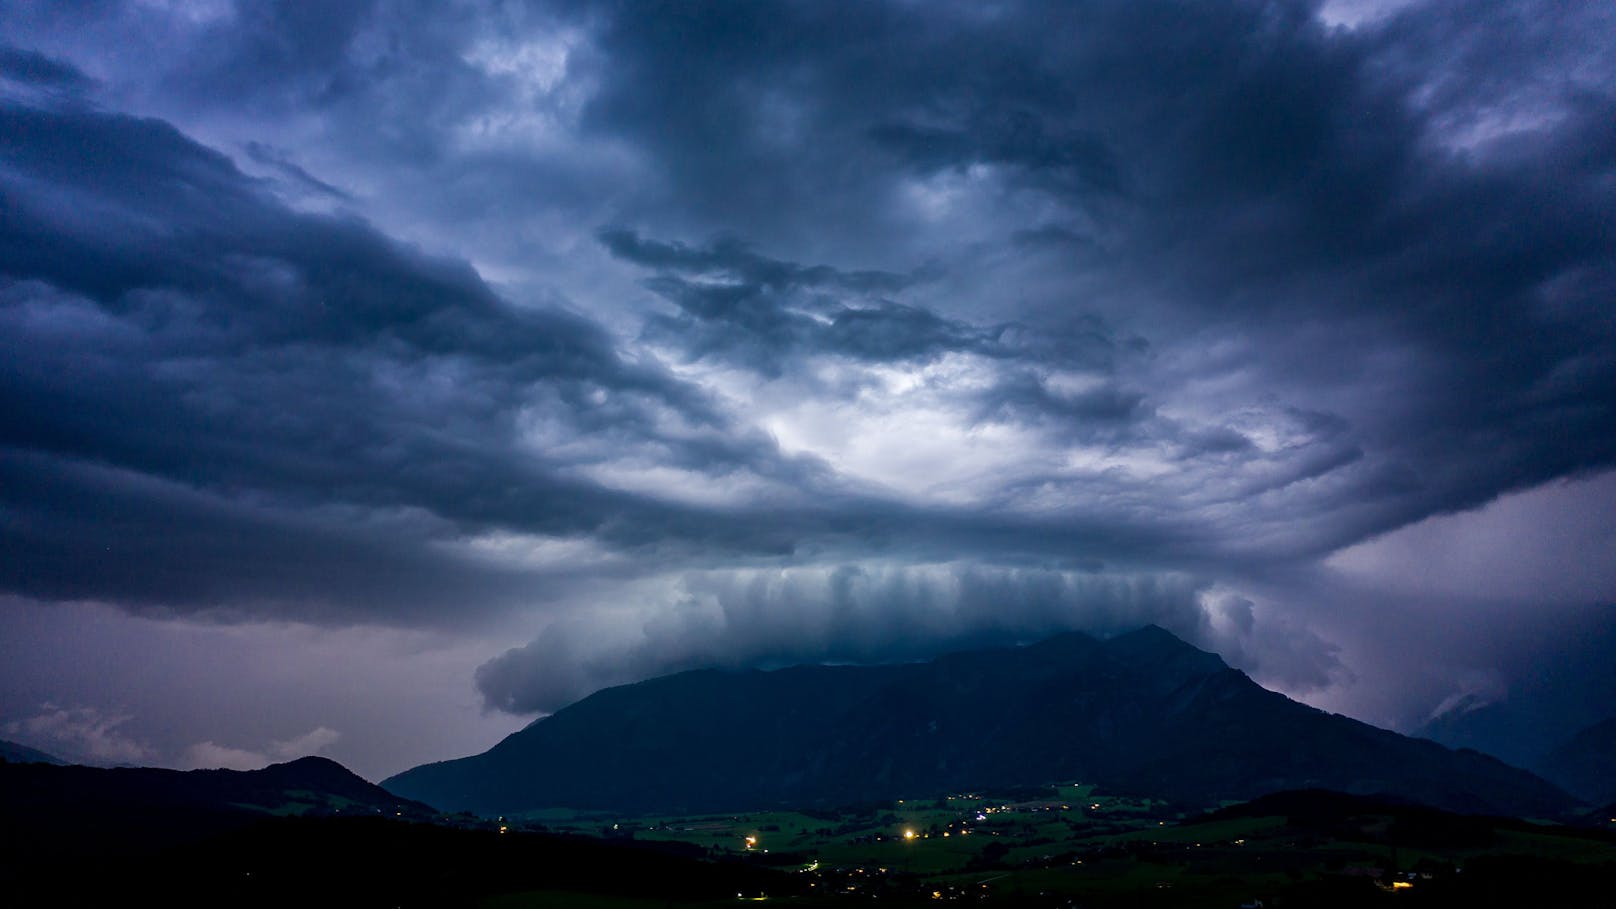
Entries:
{"label": "entire dark strip of land across the bottom, including the lit valley", "polygon": [[475,817],[330,762],[196,773],[0,763],[6,904],[1608,907],[1616,893],[1610,818],[1327,791],[1209,814],[1060,784],[808,812]]}

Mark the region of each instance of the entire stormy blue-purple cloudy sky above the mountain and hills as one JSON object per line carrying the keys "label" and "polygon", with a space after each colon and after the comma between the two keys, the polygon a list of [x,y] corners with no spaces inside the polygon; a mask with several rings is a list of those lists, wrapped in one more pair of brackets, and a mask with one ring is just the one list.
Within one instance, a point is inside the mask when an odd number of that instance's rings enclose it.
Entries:
{"label": "entire stormy blue-purple cloudy sky above the mountain and hills", "polygon": [[1616,713],[1605,0],[0,42],[0,738],[380,778],[1144,623],[1401,731]]}

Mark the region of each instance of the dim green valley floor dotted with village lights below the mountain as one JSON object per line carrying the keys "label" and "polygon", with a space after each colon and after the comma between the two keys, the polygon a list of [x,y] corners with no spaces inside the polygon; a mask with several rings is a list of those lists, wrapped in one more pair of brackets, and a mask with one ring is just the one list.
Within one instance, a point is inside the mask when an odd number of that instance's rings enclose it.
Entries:
{"label": "dim green valley floor dotted with village lights below the mountain", "polygon": [[[1461,877],[1467,867],[1480,872],[1475,880],[1504,869],[1495,894],[1517,886],[1530,896],[1569,878],[1605,882],[1610,893],[1616,882],[1611,831],[1445,817],[1438,831],[1411,827],[1395,809],[1330,818],[1322,827],[1286,817],[1185,817],[1164,802],[1063,783],[1013,796],[952,793],[826,812],[622,817],[546,810],[503,823],[684,843],[714,859],[774,867],[790,872],[798,888],[768,894],[768,901],[793,906],[868,899],[1227,909],[1257,899],[1267,906],[1275,899],[1450,906],[1467,904]],[[524,893],[485,906],[663,904]]]}

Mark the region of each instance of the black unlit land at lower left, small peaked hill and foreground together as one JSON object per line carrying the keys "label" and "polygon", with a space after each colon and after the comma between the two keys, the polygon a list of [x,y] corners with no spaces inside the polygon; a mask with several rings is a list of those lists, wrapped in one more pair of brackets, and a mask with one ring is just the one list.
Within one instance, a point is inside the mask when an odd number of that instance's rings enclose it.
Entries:
{"label": "black unlit land at lower left, small peaked hill and foreground together", "polygon": [[341,765],[255,772],[0,762],[6,906],[477,906],[514,891],[701,901],[789,875],[675,843],[448,817]]}

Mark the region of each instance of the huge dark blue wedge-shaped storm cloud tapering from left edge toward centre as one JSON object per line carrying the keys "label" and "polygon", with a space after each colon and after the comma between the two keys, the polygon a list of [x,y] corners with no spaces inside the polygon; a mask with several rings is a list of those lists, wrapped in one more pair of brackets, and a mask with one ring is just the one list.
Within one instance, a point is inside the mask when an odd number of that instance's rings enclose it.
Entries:
{"label": "huge dark blue wedge-shaped storm cloud tapering from left edge toward centre", "polygon": [[[18,105],[0,125],[15,592],[443,605],[467,595],[449,577],[475,573],[407,581],[449,561],[419,552],[435,539],[730,535],[566,476],[579,461],[648,448],[692,471],[811,469],[771,459],[590,322],[512,306],[462,264],[360,222],[294,214],[166,125]],[[648,427],[664,417],[688,429],[659,438]],[[588,437],[590,451],[525,443],[525,421]],[[341,508],[381,518],[322,518]],[[304,514],[280,527],[257,514],[276,509]],[[310,535],[326,522],[354,539]]]}

